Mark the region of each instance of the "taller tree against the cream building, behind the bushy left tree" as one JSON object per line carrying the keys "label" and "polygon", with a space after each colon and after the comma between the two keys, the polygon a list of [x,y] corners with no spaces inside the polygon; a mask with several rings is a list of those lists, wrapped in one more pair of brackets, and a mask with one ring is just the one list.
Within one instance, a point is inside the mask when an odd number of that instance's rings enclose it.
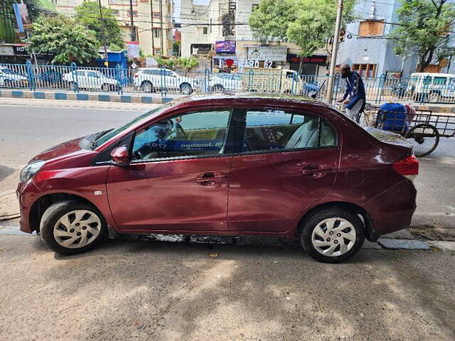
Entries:
{"label": "taller tree against the cream building, behind the bushy left tree", "polygon": [[[85,1],[75,8],[75,21],[82,24],[90,31],[94,31],[100,46],[103,44],[103,31],[106,35],[106,45],[124,48],[124,40],[119,28],[117,18],[112,9],[102,6],[102,21],[100,19],[100,7],[96,1]],[[103,25],[104,23],[104,25]]]}

